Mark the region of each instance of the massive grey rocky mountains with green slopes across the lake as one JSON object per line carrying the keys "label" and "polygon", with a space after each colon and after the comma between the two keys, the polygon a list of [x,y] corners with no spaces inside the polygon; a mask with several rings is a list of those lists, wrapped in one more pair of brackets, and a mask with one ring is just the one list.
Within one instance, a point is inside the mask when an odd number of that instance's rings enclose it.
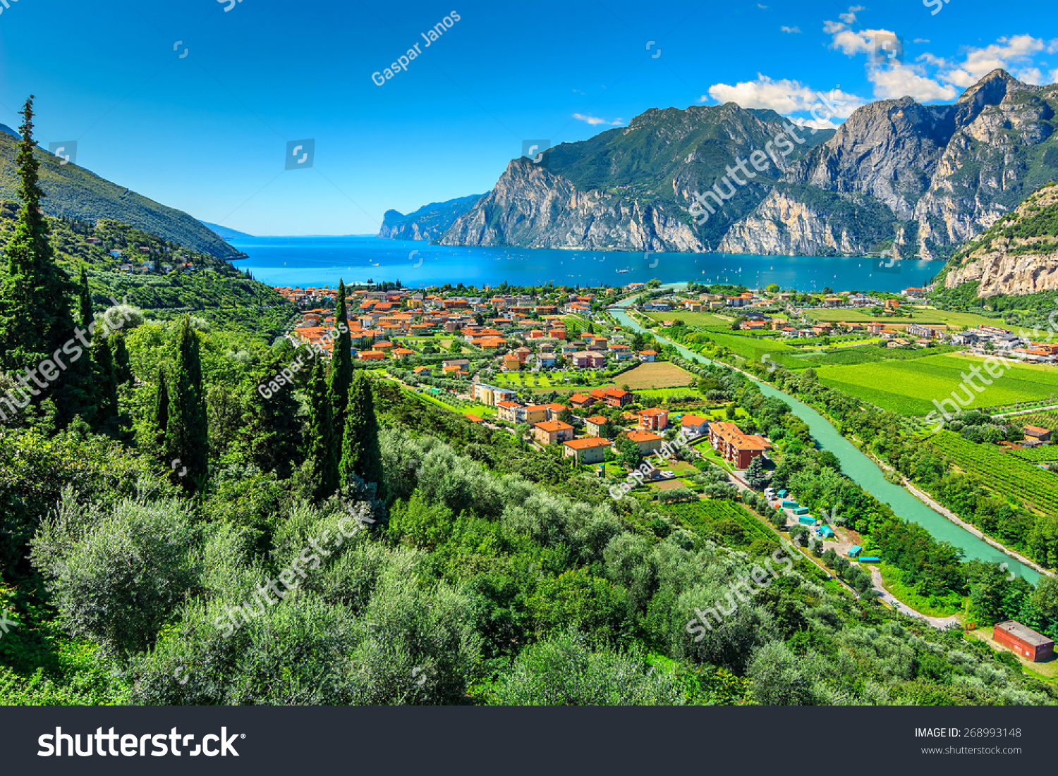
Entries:
{"label": "massive grey rocky mountains with green slopes across the lake", "polygon": [[[444,215],[434,238],[444,245],[946,259],[1058,178],[1056,108],[1058,86],[995,70],[951,105],[884,99],[836,131],[795,128],[787,137],[803,143],[786,156],[768,147],[789,127],[773,111],[651,109],[512,160],[461,215],[445,206],[464,200],[427,206],[428,234]],[[754,151],[774,164],[731,185],[732,166]],[[695,192],[709,190],[724,197],[706,200],[715,213],[704,219]],[[416,233],[416,215],[402,219],[402,234]]]}

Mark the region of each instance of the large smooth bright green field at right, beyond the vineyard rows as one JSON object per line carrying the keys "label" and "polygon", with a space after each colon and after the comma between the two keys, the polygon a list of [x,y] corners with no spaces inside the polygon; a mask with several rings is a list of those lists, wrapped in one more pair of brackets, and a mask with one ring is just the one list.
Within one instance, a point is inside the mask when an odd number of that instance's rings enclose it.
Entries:
{"label": "large smooth bright green field at right, beyond the vineyard rows", "polygon": [[[977,361],[984,362],[983,358]],[[954,355],[929,355],[914,359],[820,367],[816,373],[823,385],[859,396],[882,409],[924,415],[936,409],[933,399],[950,400],[952,391],[965,396],[964,391],[971,390],[963,387],[962,374],[968,373],[968,362],[966,357]],[[981,381],[977,384],[983,385]],[[977,394],[973,406],[999,407],[1046,399],[1054,393],[1058,393],[1058,369],[1040,370],[1036,365],[1013,365],[992,385]]]}

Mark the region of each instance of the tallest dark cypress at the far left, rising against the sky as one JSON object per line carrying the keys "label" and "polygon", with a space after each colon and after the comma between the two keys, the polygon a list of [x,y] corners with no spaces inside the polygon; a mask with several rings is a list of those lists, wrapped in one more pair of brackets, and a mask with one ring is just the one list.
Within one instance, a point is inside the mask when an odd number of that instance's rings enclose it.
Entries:
{"label": "tallest dark cypress at the far left, rising against the sky", "polygon": [[55,263],[48,219],[40,208],[44,192],[37,185],[40,163],[34,155],[32,95],[20,113],[16,164],[22,207],[7,243],[7,275],[0,284],[0,367],[8,371],[35,368],[60,349],[73,330],[72,283]]}

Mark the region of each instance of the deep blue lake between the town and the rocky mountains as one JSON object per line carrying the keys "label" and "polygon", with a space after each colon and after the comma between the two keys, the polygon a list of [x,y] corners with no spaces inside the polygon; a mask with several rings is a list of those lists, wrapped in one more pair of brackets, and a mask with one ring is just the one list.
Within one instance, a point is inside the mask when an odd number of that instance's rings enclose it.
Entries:
{"label": "deep blue lake between the town and the rocky mountains", "polygon": [[663,283],[778,283],[799,291],[900,291],[920,287],[940,261],[748,254],[662,254],[624,251],[553,251],[513,247],[448,247],[375,237],[254,237],[231,244],[250,256],[236,262],[270,285],[336,285],[338,281],[400,280],[404,285],[625,285],[657,278]]}

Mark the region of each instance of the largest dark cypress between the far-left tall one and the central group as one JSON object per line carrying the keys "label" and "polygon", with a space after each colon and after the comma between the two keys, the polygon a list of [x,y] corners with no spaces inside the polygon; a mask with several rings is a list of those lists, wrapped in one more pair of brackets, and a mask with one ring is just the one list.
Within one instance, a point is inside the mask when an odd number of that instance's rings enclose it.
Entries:
{"label": "largest dark cypress between the far-left tall one and the central group", "polygon": [[[199,337],[191,329],[189,315],[180,321],[174,347],[176,357],[169,393],[169,422],[163,447],[164,461],[172,468],[172,482],[193,493],[204,483],[208,474],[209,427],[202,387]],[[185,466],[187,470],[181,476]]]}

